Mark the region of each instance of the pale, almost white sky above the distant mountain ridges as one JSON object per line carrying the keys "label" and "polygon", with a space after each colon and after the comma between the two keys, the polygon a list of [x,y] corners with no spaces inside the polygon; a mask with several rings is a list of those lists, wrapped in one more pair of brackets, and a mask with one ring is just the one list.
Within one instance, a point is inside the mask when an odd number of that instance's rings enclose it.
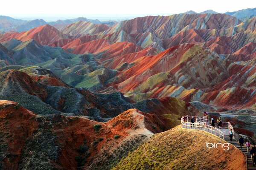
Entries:
{"label": "pale, almost white sky above the distant mountain ridges", "polygon": [[255,8],[256,0],[4,0],[0,15],[55,20],[74,17],[125,19],[212,9],[219,13]]}

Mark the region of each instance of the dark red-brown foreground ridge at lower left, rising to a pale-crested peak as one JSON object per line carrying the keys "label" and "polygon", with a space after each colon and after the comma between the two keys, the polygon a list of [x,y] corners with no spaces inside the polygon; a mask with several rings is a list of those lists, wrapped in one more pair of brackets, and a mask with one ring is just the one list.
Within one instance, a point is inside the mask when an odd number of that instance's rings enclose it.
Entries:
{"label": "dark red-brown foreground ridge at lower left, rising to a pale-crested peak", "polygon": [[106,123],[59,114],[38,116],[4,100],[0,100],[0,119],[4,120],[0,131],[5,132],[0,133],[0,168],[6,170],[38,166],[107,170],[149,136],[169,129],[163,121],[178,123],[177,117],[168,119],[136,109]]}

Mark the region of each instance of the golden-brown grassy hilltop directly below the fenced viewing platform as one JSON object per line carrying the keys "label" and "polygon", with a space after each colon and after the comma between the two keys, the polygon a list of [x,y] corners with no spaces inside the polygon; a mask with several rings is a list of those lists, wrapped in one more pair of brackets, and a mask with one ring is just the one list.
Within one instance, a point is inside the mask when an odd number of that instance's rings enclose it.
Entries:
{"label": "golden-brown grassy hilltop directly below the fenced viewing platform", "polygon": [[155,134],[128,154],[112,170],[246,170],[244,154],[230,145],[230,149],[207,148],[206,142],[223,140],[201,131],[175,127]]}

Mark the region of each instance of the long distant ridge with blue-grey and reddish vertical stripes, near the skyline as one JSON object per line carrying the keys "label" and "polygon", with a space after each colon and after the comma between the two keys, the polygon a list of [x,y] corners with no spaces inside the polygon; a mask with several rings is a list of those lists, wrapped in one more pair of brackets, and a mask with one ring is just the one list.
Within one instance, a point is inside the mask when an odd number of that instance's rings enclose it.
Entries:
{"label": "long distant ridge with blue-grey and reddish vertical stripes, near the skyline", "polygon": [[226,14],[174,14],[166,17],[147,16],[122,21],[114,25],[107,32],[111,33],[117,29],[122,29],[128,34],[140,34],[150,31],[158,38],[165,39],[183,29],[221,29],[230,28],[239,23],[241,23],[240,20]]}

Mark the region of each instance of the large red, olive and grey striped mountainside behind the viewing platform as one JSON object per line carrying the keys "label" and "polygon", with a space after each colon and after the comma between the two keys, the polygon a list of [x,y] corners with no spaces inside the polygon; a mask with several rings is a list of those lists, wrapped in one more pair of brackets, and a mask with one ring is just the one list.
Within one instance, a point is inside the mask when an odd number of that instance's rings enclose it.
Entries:
{"label": "large red, olive and grey striped mountainside behind the viewing platform", "polygon": [[[186,102],[241,108],[256,102],[255,75],[253,65],[233,64],[198,45],[183,44],[138,57],[108,86],[135,101],[173,96]],[[235,94],[246,100],[232,97]]]}

